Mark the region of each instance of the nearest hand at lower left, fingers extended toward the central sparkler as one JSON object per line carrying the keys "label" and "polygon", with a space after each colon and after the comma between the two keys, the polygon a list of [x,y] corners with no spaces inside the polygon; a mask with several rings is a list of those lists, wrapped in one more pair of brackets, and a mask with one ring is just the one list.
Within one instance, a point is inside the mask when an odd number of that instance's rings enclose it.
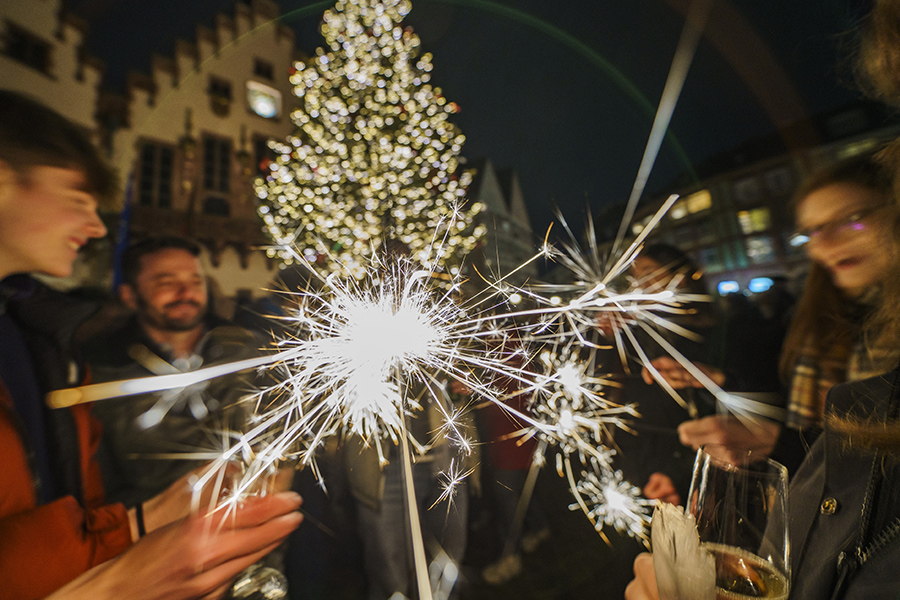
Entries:
{"label": "nearest hand at lower left, fingers extended toward the central sparkler", "polygon": [[220,598],[238,573],[300,524],[294,492],[250,498],[232,512],[192,515],[141,538],[47,600]]}

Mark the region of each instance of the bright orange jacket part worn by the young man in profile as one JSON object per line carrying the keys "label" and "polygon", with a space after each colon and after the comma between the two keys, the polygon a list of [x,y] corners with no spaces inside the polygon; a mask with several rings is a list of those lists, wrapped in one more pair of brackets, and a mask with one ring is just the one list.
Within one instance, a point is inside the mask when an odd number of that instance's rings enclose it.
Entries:
{"label": "bright orange jacket part worn by the young man in profile", "polygon": [[37,506],[27,450],[6,387],[0,383],[0,600],[42,598],[131,544],[121,504],[104,505],[94,454],[100,425],[88,406],[71,409],[77,430],[82,497]]}

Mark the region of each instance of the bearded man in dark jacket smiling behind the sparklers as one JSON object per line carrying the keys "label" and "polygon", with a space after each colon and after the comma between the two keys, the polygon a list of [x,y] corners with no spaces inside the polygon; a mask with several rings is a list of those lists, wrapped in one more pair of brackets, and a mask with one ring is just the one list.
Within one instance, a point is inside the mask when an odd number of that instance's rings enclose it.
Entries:
{"label": "bearded man in dark jacket smiling behind the sparklers", "polygon": [[[252,333],[208,310],[199,255],[197,244],[179,237],[150,238],[126,250],[118,292],[134,315],[87,342],[95,382],[193,371],[259,354]],[[246,374],[235,374],[98,402],[107,495],[134,506],[166,489],[201,462],[184,455],[221,448],[222,432],[243,425],[240,400],[252,390]]]}

